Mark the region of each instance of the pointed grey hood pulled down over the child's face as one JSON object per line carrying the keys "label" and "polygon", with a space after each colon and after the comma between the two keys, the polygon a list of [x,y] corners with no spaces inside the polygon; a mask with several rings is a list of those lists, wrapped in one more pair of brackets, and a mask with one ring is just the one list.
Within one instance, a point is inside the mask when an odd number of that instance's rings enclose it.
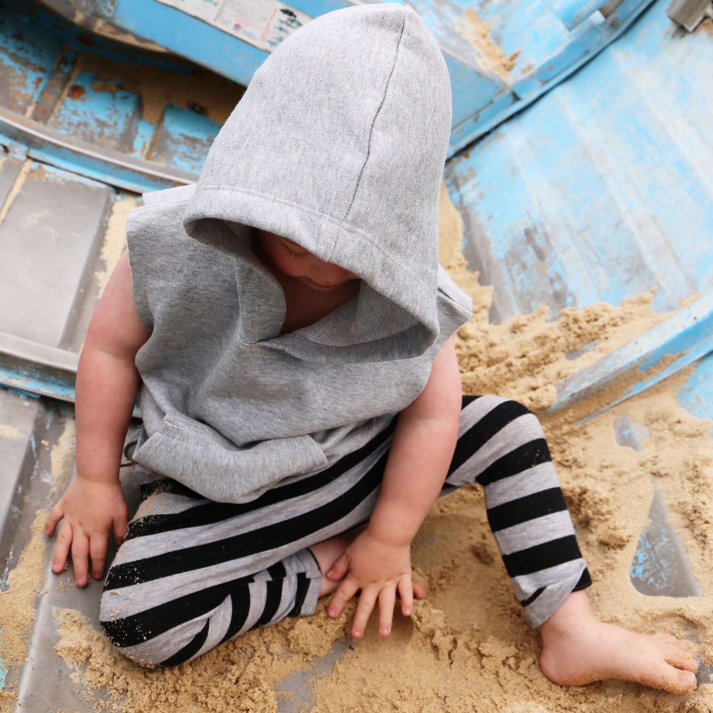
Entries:
{"label": "pointed grey hood pulled down over the child's face", "polygon": [[[436,39],[399,4],[310,21],[260,66],[207,156],[183,225],[235,256],[240,338],[320,361],[407,358],[438,337],[438,194],[451,88]],[[362,279],[277,337],[284,296],[253,228]]]}

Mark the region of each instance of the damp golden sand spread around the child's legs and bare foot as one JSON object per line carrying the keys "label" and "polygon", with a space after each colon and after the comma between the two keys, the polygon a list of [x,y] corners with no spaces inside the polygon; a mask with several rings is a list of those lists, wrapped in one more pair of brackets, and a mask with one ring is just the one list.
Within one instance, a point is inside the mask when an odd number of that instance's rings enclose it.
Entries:
{"label": "damp golden sand spread around the child's legs and bare foot", "polygon": [[[473,294],[475,303],[473,319],[457,337],[467,393],[507,394],[533,409],[544,409],[553,399],[554,381],[666,317],[652,312],[652,295],[647,294],[621,307],[600,304],[565,310],[552,322],[540,311],[501,325],[488,324],[491,290],[478,286],[477,276],[465,271],[461,231],[458,214],[443,195],[441,262]],[[593,341],[596,346],[578,359],[567,358]],[[577,421],[585,409],[596,410],[591,403],[543,416],[543,426],[595,581],[589,590],[595,610],[607,621],[643,632],[688,637],[703,660],[713,662],[712,607],[706,594],[713,585],[706,566],[713,534],[712,424],[684,411],[675,399],[689,371],[584,425]],[[610,398],[607,393],[594,397],[597,404]],[[641,451],[617,446],[613,424],[622,414],[650,430]],[[629,570],[655,488],[671,510],[670,520],[702,585],[702,597],[645,597],[632,586]],[[31,570],[45,556],[38,546],[41,533],[34,533],[33,543],[18,570]],[[414,565],[429,583],[429,596],[416,603],[410,620],[396,615],[387,640],[377,635],[376,622],[371,622],[363,640],[349,640],[354,605],[330,620],[323,600],[313,617],[251,632],[172,670],[133,665],[71,610],[56,612],[56,651],[73,669],[78,696],[123,713],[276,711],[284,695],[279,682],[319,662],[345,637],[349,646],[344,655],[310,683],[312,702],[304,710],[713,711],[710,686],[677,697],[622,682],[579,688],[548,682],[538,667],[538,634],[525,623],[489,533],[481,488],[463,488],[438,501],[413,550]],[[4,604],[0,598],[0,612],[6,611]],[[19,605],[29,607],[31,600],[25,598]],[[100,688],[109,694],[106,704],[93,697],[92,690]]]}

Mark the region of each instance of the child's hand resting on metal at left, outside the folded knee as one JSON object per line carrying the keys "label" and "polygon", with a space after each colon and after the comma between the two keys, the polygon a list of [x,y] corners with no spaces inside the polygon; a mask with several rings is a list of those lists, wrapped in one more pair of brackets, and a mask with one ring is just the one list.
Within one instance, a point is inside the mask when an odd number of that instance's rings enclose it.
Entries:
{"label": "child's hand resting on metal at left, outside the folded knee", "polygon": [[63,520],[52,555],[52,571],[60,573],[66,566],[71,548],[74,580],[78,587],[88,583],[88,558],[92,576],[104,573],[109,532],[113,528],[117,543],[126,534],[128,513],[118,479],[116,482],[90,481],[79,474],[54,506],[45,523],[45,534],[51,535]]}

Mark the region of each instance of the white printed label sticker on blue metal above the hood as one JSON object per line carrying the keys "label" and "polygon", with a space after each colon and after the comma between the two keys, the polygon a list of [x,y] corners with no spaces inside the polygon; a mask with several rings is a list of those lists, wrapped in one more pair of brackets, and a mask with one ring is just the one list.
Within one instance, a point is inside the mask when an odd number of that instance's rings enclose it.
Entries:
{"label": "white printed label sticker on blue metal above the hood", "polygon": [[312,18],[279,0],[158,0],[272,52]]}

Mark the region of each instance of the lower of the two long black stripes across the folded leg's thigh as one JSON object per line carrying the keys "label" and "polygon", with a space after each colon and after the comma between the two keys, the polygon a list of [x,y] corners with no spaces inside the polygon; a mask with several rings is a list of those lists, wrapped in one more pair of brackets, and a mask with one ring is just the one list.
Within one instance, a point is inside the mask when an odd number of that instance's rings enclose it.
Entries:
{"label": "lower of the two long black stripes across the folded leg's thigh", "polygon": [[143,582],[158,580],[179,572],[198,570],[230,560],[250,557],[259,552],[276,550],[282,545],[297,542],[327,525],[341,520],[364,501],[381,483],[389,451],[381,455],[357,483],[333,501],[247,533],[233,535],[217,542],[195,545],[182,550],[155,555],[143,560],[114,565],[108,572],[106,590],[120,589]]}

